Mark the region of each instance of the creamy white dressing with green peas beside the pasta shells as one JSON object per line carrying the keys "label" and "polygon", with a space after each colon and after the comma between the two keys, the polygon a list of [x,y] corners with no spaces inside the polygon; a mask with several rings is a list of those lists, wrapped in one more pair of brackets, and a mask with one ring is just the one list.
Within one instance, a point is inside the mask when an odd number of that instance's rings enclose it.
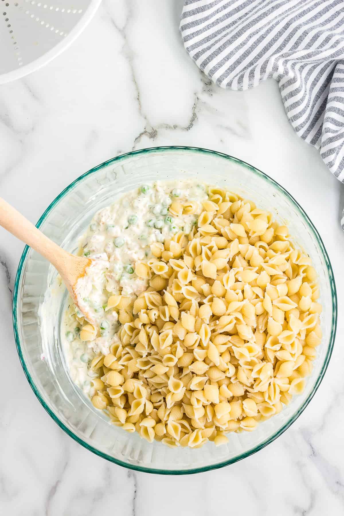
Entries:
{"label": "creamy white dressing with green peas beside the pasta shells", "polygon": [[[149,260],[150,244],[163,242],[178,231],[188,234],[207,198],[205,185],[195,181],[142,185],[97,212],[79,239],[79,254],[88,256],[92,265],[77,282],[77,300],[94,321],[97,334],[92,341],[80,339],[83,313],[69,299],[61,336],[72,380],[88,395],[93,395],[91,380],[97,376],[90,369],[92,359],[99,353],[108,354],[111,344],[119,341],[118,313],[107,308],[108,298],[116,294],[135,298],[147,288],[148,281],[135,274],[136,262]],[[196,201],[197,212],[171,215],[173,201]]]}

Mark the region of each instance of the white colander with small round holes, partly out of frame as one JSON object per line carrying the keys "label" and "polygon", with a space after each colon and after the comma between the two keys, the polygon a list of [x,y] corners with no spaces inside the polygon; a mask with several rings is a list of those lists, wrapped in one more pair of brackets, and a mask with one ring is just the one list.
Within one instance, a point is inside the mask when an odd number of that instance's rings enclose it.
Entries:
{"label": "white colander with small round holes, partly out of frame", "polygon": [[91,20],[101,0],[0,0],[0,84],[60,54]]}

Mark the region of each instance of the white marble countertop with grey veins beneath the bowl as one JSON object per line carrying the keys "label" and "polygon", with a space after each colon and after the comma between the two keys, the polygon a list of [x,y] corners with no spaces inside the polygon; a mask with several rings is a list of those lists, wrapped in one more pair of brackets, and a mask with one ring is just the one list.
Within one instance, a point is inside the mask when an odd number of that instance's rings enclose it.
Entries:
{"label": "white marble countertop with grey veins beneath the bowl", "polygon": [[[304,207],[329,252],[342,307],[343,185],[293,133],[275,82],[248,92],[210,84],[179,37],[182,4],[104,1],[67,51],[0,88],[0,195],[36,223],[65,186],[117,154],[170,144],[232,154],[279,181]],[[0,231],[0,514],[344,513],[342,316],[318,392],[279,439],[218,471],[135,473],[70,439],[29,388],[11,313],[22,250]]]}

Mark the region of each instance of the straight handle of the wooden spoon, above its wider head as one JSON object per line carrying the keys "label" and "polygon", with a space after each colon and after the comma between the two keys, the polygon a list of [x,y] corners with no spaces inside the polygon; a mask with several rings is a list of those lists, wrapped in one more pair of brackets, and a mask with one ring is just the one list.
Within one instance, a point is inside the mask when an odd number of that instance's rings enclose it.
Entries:
{"label": "straight handle of the wooden spoon, above its wider head", "polygon": [[61,257],[69,254],[43,235],[34,224],[0,197],[0,225],[44,256],[57,269]]}

